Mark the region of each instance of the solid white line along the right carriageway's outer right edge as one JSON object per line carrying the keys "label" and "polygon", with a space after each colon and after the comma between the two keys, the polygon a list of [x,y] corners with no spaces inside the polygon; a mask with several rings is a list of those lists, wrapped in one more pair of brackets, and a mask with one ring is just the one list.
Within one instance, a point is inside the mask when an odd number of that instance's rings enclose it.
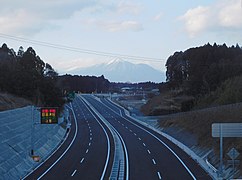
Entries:
{"label": "solid white line along the right carriageway's outer right edge", "polygon": [[[103,103],[104,104],[104,103]],[[106,107],[108,107],[106,104],[104,104]],[[109,109],[111,109],[110,107],[108,107]],[[111,109],[112,110],[112,109]],[[113,112],[115,112],[114,110],[112,110]],[[116,113],[116,112],[115,112]],[[117,113],[116,113],[117,114]],[[123,117],[123,116],[122,116]],[[147,131],[146,129],[144,129],[143,127],[141,127],[138,124],[133,123],[132,121],[128,120],[127,118],[123,117],[126,121],[130,122],[131,124],[135,125],[136,127],[144,130],[145,132],[147,132],[148,134],[150,134],[151,136],[153,136],[155,139],[157,139],[161,144],[163,144],[177,159],[178,161],[180,161],[180,163],[183,165],[183,167],[187,170],[187,172],[191,175],[191,177],[196,180],[196,177],[193,175],[193,173],[190,171],[190,169],[186,166],[186,164],[181,160],[181,158],[163,141],[161,141],[156,135],[154,135],[153,133]],[[137,122],[138,123],[138,122]]]}

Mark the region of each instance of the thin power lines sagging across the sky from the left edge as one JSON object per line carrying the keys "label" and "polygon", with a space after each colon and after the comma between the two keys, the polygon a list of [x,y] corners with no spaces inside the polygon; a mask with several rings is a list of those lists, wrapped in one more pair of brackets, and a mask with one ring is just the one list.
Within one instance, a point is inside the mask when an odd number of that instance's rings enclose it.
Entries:
{"label": "thin power lines sagging across the sky from the left edge", "polygon": [[59,45],[59,44],[52,44],[52,43],[44,42],[44,41],[31,40],[31,39],[7,35],[7,34],[3,34],[3,33],[0,33],[0,37],[19,41],[19,42],[40,45],[40,46],[44,46],[44,47],[50,47],[50,48],[55,48],[55,49],[61,49],[61,50],[84,53],[84,54],[91,54],[91,55],[98,55],[98,56],[132,59],[132,60],[137,60],[137,61],[142,60],[142,61],[148,61],[148,62],[161,62],[163,60],[163,59],[152,58],[152,57],[133,56],[133,55],[126,55],[126,54],[95,51],[95,50],[90,50],[90,49],[81,49],[81,48],[76,48],[76,47],[71,47],[71,46],[63,46],[63,45]]}

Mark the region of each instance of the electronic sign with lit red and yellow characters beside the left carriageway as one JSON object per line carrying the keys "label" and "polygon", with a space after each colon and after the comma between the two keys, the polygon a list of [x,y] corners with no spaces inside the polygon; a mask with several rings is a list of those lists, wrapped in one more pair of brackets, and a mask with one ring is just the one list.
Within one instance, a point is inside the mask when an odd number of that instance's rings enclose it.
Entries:
{"label": "electronic sign with lit red and yellow characters beside the left carriageway", "polygon": [[57,124],[57,108],[41,108],[40,121],[41,124]]}

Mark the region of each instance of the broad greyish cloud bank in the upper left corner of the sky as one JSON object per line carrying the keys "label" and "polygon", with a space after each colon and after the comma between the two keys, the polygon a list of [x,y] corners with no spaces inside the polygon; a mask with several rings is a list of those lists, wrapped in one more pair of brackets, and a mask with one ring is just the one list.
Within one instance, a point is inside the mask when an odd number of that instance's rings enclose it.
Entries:
{"label": "broad greyish cloud bank in the upper left corner of the sky", "polygon": [[0,32],[35,34],[54,26],[56,20],[68,19],[75,12],[95,5],[95,0],[1,1]]}

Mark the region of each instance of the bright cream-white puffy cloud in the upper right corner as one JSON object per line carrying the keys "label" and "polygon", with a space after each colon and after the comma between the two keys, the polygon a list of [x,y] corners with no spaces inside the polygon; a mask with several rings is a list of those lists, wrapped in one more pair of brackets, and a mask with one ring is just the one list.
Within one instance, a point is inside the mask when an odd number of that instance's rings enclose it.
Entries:
{"label": "bright cream-white puffy cloud in the upper right corner", "polygon": [[242,30],[241,0],[219,0],[211,6],[189,9],[178,19],[184,22],[190,37],[203,32],[233,32]]}

